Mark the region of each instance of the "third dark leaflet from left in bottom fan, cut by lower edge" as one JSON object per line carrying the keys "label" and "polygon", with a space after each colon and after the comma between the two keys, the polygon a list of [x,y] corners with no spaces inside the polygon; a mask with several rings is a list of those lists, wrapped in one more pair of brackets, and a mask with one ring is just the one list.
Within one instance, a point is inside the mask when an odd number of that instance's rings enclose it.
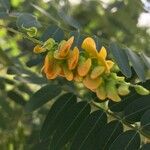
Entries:
{"label": "third dark leaflet from left in bottom fan, cut by lower edge", "polygon": [[97,150],[96,134],[106,122],[107,116],[102,110],[91,113],[77,131],[70,150]]}

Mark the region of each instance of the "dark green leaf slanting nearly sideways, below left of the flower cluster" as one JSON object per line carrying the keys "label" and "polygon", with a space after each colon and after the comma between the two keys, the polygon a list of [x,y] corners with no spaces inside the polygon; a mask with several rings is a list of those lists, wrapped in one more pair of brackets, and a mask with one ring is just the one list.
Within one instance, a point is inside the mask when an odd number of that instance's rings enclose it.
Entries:
{"label": "dark green leaf slanting nearly sideways, below left of the flower cluster", "polygon": [[37,92],[35,92],[27,102],[25,107],[26,112],[31,112],[41,107],[43,104],[58,96],[60,92],[61,88],[57,85],[48,84],[42,87]]}

